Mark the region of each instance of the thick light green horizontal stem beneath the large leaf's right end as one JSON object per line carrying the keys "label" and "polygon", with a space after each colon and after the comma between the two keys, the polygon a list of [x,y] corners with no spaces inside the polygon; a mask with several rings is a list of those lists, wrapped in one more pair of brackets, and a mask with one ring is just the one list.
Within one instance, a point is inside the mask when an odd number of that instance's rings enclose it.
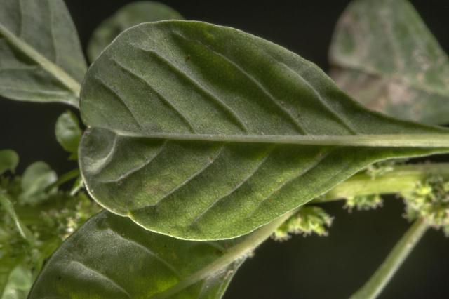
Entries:
{"label": "thick light green horizontal stem beneath the large leaf's right end", "polygon": [[415,188],[416,182],[429,175],[441,175],[443,178],[449,178],[449,163],[395,166],[394,171],[385,173],[378,178],[371,178],[366,173],[358,173],[341,182],[323,197],[315,199],[314,203],[360,195],[408,192]]}

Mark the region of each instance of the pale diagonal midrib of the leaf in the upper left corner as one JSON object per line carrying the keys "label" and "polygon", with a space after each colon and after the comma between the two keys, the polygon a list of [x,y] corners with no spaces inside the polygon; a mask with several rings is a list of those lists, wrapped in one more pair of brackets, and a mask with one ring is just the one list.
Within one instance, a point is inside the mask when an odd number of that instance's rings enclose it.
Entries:
{"label": "pale diagonal midrib of the leaf in the upper left corner", "polygon": [[[4,38],[9,41],[9,43],[17,48],[19,51],[22,51],[27,57],[31,58],[40,65],[43,69],[46,70],[49,74],[51,74],[56,80],[60,81],[62,85],[64,85],[69,91],[71,91],[76,98],[79,98],[79,93],[81,91],[81,84],[76,81],[73,77],[71,77],[64,69],[55,65],[55,63],[48,60],[45,56],[41,55],[38,51],[34,50],[32,46],[29,46],[25,41],[22,41],[18,36],[13,34],[13,32],[9,31],[4,25],[0,24],[0,36],[4,36]],[[79,104],[76,101],[67,101],[69,104],[78,107]]]}

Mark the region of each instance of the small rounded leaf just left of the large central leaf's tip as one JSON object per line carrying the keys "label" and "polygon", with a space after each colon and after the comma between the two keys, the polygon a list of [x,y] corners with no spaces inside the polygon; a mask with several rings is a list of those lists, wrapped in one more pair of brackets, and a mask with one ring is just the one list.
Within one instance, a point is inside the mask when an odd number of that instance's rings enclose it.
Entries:
{"label": "small rounded leaf just left of the large central leaf's tip", "polygon": [[71,158],[78,157],[78,145],[83,131],[79,128],[79,121],[73,112],[67,111],[58,117],[55,125],[56,140],[71,153]]}

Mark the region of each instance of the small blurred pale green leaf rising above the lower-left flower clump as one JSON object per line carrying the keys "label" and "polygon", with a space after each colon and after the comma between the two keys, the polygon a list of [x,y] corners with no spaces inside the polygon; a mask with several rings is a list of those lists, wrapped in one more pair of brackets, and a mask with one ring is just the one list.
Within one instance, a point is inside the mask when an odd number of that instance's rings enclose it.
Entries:
{"label": "small blurred pale green leaf rising above the lower-left flower clump", "polygon": [[58,180],[58,175],[48,164],[44,162],[34,162],[22,176],[22,193],[20,194],[21,204],[36,204],[45,199],[46,188]]}

